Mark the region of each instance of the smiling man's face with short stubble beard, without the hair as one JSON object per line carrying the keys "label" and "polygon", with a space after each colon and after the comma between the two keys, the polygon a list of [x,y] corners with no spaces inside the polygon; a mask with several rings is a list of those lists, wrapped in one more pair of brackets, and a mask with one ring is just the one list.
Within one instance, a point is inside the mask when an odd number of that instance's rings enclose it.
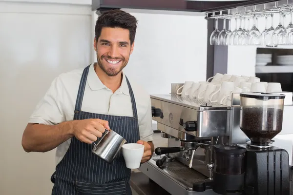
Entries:
{"label": "smiling man's face with short stubble beard, without the hair", "polygon": [[110,77],[118,75],[128,63],[133,46],[129,30],[103,27],[98,41],[94,40],[99,67]]}

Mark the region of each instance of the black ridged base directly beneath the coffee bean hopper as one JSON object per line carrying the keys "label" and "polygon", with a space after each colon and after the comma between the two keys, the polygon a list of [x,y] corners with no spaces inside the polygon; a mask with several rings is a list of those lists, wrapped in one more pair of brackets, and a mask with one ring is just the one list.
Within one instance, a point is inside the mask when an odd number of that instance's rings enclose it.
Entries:
{"label": "black ridged base directly beneath the coffee bean hopper", "polygon": [[286,150],[247,147],[245,195],[290,195],[289,169]]}

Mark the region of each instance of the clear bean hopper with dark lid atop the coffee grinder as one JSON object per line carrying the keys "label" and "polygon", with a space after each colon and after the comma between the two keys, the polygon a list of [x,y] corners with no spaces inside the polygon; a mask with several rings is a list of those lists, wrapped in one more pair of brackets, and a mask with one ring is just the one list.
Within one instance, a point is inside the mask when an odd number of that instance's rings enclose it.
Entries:
{"label": "clear bean hopper with dark lid atop the coffee grinder", "polygon": [[282,130],[285,95],[240,94],[240,129],[251,145],[267,146]]}

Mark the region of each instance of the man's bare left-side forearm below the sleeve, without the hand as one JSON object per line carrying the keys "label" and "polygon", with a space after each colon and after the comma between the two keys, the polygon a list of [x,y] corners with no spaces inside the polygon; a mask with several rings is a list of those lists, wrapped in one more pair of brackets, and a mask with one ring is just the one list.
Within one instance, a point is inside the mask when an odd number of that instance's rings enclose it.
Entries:
{"label": "man's bare left-side forearm below the sleeve, without the hand", "polygon": [[58,125],[29,123],[22,136],[22,147],[25,152],[47,152],[53,150],[67,139],[73,137],[72,122]]}

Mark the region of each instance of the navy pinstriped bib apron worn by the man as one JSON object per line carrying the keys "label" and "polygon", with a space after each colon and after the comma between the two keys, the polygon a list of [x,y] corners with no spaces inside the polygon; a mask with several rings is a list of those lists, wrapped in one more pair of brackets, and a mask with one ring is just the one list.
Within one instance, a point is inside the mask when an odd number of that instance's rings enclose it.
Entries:
{"label": "navy pinstriped bib apron worn by the man", "polygon": [[[110,129],[124,137],[127,143],[140,139],[136,103],[130,83],[126,78],[134,117],[120,117],[81,111],[84,88],[89,66],[84,69],[76,105],[74,120],[100,118],[109,122]],[[99,101],[97,97],[97,101]],[[121,102],[123,103],[123,102]],[[120,150],[109,164],[91,152],[93,144],[87,144],[72,137],[61,162],[56,166],[55,184],[52,195],[132,195],[129,186],[130,169],[126,168]]]}

